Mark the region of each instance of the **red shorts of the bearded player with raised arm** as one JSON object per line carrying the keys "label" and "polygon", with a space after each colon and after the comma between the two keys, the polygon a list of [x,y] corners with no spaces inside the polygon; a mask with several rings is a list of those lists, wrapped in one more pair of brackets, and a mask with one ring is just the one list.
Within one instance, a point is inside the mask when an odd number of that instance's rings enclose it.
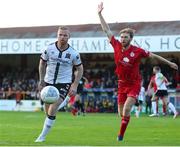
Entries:
{"label": "red shorts of the bearded player with raised arm", "polygon": [[118,104],[124,104],[127,97],[137,99],[141,90],[141,81],[135,83],[123,83],[118,81]]}

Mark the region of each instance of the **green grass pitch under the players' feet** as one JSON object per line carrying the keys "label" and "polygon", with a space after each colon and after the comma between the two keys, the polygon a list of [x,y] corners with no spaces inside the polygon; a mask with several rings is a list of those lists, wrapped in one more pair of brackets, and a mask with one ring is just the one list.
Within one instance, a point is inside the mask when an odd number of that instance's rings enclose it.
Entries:
{"label": "green grass pitch under the players' feet", "polygon": [[116,114],[74,117],[59,112],[46,141],[35,143],[44,112],[0,112],[0,146],[179,146],[180,117],[150,118],[133,115],[124,141],[117,142],[120,118]]}

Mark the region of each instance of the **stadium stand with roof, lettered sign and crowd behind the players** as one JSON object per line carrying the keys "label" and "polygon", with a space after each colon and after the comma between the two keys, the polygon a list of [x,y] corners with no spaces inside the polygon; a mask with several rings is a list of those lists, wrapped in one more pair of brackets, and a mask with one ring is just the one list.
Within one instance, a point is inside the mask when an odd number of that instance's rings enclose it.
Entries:
{"label": "stadium stand with roof, lettered sign and crowd behind the players", "polygon": [[[131,27],[136,30],[133,44],[154,52],[180,66],[180,21],[110,23],[118,32]],[[0,110],[40,111],[38,64],[40,54],[56,40],[57,26],[0,28]],[[69,44],[81,54],[84,65],[82,100],[86,112],[117,112],[117,77],[114,73],[113,49],[102,32],[100,24],[68,25]],[[180,70],[156,60],[143,60],[140,71],[143,86],[152,76],[152,67],[159,65],[171,82],[169,99],[180,110]],[[144,98],[145,112],[146,98]]]}

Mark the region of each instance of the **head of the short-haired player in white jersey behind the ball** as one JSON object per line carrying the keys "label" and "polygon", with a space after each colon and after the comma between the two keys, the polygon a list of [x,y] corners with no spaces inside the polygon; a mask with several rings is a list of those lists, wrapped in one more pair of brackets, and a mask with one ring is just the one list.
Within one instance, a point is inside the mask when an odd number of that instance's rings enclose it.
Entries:
{"label": "head of the short-haired player in white jersey behind the ball", "polygon": [[58,37],[58,42],[61,45],[65,45],[68,42],[68,39],[70,37],[70,33],[68,30],[61,30],[60,29],[60,30],[58,30],[57,37]]}

